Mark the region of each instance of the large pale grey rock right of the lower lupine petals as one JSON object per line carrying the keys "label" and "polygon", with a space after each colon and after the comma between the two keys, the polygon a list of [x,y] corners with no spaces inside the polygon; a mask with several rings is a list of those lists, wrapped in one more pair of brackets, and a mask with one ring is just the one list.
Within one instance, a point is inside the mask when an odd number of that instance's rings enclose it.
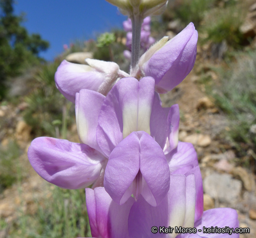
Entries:
{"label": "large pale grey rock right of the lower lupine petals", "polygon": [[240,198],[242,182],[231,175],[213,173],[204,178],[204,191],[220,202],[236,203]]}

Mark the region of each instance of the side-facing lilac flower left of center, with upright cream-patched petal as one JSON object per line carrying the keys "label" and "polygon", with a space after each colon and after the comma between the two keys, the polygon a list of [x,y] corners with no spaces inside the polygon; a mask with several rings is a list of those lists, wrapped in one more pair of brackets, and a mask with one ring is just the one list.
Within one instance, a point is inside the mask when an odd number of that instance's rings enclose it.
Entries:
{"label": "side-facing lilac flower left of center, with upright cream-patched petal", "polygon": [[39,137],[28,148],[28,159],[42,178],[59,187],[79,189],[91,184],[103,186],[108,157],[96,142],[96,127],[105,96],[84,89],[76,99],[76,120],[85,119],[84,123],[77,125],[82,143]]}

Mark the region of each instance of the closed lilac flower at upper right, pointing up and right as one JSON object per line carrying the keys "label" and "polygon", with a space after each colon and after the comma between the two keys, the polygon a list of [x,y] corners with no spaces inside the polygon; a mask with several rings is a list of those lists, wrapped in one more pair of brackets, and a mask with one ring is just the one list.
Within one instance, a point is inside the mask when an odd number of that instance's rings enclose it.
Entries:
{"label": "closed lilac flower at upper right, pointing up and right", "polygon": [[192,23],[171,40],[164,37],[140,57],[137,74],[153,77],[157,92],[171,91],[192,70],[197,39],[198,33]]}

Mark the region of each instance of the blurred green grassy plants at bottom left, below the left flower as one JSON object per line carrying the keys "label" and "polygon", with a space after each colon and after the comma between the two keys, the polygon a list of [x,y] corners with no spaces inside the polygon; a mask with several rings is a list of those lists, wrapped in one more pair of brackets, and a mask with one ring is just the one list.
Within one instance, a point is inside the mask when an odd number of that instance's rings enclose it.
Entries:
{"label": "blurred green grassy plants at bottom left, below the left flower", "polygon": [[[48,184],[44,197],[37,200],[35,196],[34,214],[20,210],[18,218],[9,224],[10,237],[90,237],[84,189],[64,190]],[[2,226],[5,226],[4,222]]]}

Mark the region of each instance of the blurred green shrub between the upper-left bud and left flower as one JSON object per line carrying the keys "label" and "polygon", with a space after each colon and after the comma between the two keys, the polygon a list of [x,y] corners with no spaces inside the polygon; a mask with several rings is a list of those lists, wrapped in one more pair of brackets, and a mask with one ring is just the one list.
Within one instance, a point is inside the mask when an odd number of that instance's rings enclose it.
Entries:
{"label": "blurred green shrub between the upper-left bud and left flower", "polygon": [[67,105],[67,100],[55,85],[54,75],[59,63],[49,63],[42,67],[36,76],[35,90],[25,98],[29,107],[24,111],[23,117],[36,136],[59,135],[60,123],[57,125],[56,120],[63,123],[61,123],[62,132],[65,133],[64,127],[73,121],[73,118],[66,113],[67,107],[69,109],[71,106]]}

